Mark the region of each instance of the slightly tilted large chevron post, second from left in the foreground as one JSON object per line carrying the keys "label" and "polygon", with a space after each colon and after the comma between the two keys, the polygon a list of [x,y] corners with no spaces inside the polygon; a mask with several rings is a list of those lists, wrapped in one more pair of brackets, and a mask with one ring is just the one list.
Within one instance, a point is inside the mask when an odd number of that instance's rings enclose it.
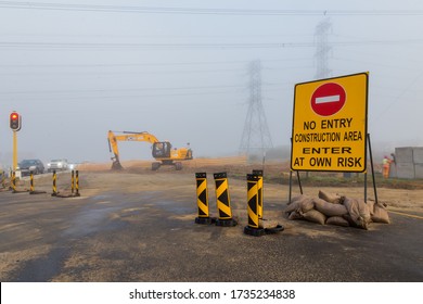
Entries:
{"label": "slightly tilted large chevron post, second from left in the foreground", "polygon": [[233,227],[238,221],[232,217],[231,200],[227,173],[215,173],[216,204],[218,211],[217,226]]}

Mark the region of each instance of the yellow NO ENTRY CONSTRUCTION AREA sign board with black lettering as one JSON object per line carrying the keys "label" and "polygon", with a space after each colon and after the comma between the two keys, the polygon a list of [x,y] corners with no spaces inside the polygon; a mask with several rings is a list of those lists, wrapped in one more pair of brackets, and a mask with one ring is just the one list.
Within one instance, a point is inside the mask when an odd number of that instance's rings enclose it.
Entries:
{"label": "yellow NO ENTRY CONSTRUCTION AREA sign board with black lettering", "polygon": [[364,172],[369,73],[297,84],[291,168]]}

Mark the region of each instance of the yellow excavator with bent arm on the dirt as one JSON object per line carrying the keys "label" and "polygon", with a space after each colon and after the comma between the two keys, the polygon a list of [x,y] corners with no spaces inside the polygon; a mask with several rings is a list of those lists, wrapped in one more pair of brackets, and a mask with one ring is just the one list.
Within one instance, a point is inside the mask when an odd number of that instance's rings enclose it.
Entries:
{"label": "yellow excavator with bent arm on the dirt", "polygon": [[[119,161],[119,150],[117,149],[118,141],[146,141],[153,143],[152,154],[157,161],[152,164],[152,169],[156,170],[163,165],[175,166],[175,169],[182,169],[181,161],[192,160],[192,150],[190,148],[172,149],[169,141],[159,141],[154,135],[146,131],[130,132],[121,131],[115,135],[114,131],[108,131],[108,150],[113,152],[112,169],[123,169]],[[188,143],[189,144],[189,143]]]}

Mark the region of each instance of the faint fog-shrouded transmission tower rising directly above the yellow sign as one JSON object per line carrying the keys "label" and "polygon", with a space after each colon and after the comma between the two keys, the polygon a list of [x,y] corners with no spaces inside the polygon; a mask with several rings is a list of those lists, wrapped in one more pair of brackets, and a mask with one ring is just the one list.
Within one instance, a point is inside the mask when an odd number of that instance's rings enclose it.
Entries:
{"label": "faint fog-shrouded transmission tower rising directly above the yellow sign", "polygon": [[316,79],[329,78],[331,75],[331,69],[329,69],[329,54],[332,48],[328,39],[331,29],[332,23],[329,18],[320,22],[316,27]]}

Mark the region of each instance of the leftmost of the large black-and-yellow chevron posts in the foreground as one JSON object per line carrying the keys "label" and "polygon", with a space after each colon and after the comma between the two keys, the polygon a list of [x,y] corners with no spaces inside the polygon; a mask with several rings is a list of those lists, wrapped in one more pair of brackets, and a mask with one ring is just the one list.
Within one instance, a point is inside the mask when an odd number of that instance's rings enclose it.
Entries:
{"label": "leftmost of the large black-and-yellow chevron posts in the foreground", "polygon": [[207,174],[196,173],[196,204],[198,216],[195,217],[196,224],[210,225],[216,223],[216,218],[210,217],[208,208]]}

